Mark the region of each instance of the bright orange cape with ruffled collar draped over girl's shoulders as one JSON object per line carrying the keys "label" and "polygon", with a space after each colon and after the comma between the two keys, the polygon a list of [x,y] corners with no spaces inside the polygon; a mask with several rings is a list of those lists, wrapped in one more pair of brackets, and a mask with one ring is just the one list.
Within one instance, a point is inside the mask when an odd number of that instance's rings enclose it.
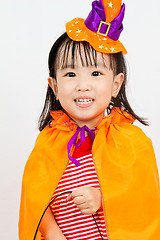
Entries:
{"label": "bright orange cape with ruffled collar draped over girl's shoulders", "polygon": [[[134,119],[118,109],[97,126],[93,160],[98,174],[110,240],[159,240],[160,184],[151,140]],[[52,112],[51,127],[38,136],[26,163],[19,239],[33,240],[40,217],[67,164],[67,144],[77,126],[63,112]],[[38,232],[37,238],[40,239]]]}

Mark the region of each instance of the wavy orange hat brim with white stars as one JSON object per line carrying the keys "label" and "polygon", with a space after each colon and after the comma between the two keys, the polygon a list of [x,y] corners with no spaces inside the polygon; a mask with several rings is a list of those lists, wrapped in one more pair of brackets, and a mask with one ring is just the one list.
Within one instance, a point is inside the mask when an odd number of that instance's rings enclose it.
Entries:
{"label": "wavy orange hat brim with white stars", "polygon": [[69,38],[74,41],[86,41],[98,52],[126,54],[127,51],[123,44],[117,40],[114,41],[108,36],[100,35],[89,30],[83,18],[74,18],[66,23],[66,32]]}

